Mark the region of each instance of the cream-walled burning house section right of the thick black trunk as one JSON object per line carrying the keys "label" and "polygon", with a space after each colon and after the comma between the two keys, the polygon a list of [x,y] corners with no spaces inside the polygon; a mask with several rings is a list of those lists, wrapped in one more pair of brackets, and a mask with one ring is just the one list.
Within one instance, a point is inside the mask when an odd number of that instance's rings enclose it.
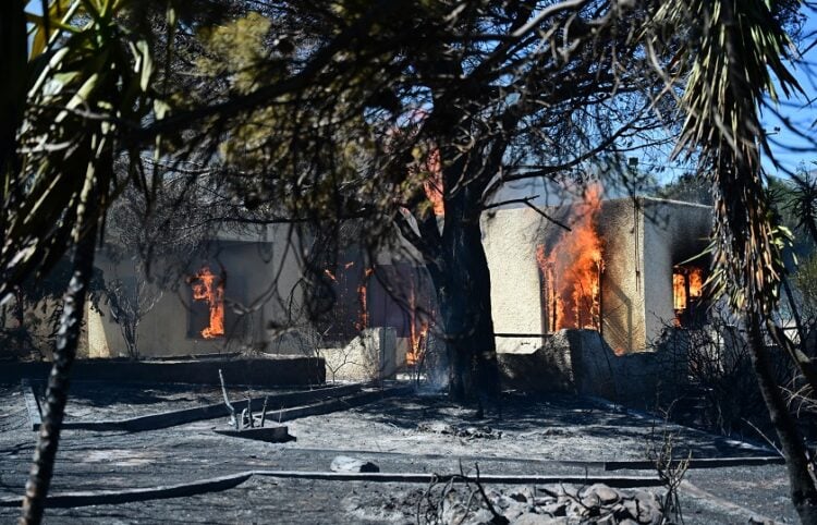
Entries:
{"label": "cream-walled burning house section right of the thick black trunk", "polygon": [[658,375],[655,341],[673,326],[703,321],[708,260],[698,256],[711,209],[647,197],[602,200],[592,188],[584,202],[545,215],[502,209],[484,222],[507,375],[540,369],[541,384],[607,395],[605,382]]}

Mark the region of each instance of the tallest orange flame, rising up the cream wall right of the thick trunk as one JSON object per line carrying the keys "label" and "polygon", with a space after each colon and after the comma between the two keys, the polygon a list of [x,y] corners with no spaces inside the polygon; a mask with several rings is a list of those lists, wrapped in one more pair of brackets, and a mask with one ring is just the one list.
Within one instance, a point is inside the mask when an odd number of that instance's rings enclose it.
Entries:
{"label": "tallest orange flame, rising up the cream wall right of the thick trunk", "polygon": [[600,187],[588,187],[571,231],[562,234],[549,254],[544,245],[536,247],[548,331],[600,328],[600,277],[605,267],[596,228],[600,210]]}

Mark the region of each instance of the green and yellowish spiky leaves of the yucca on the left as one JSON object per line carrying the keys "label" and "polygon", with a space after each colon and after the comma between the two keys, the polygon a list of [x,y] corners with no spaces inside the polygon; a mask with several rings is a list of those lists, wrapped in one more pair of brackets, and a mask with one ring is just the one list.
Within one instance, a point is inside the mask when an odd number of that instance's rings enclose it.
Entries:
{"label": "green and yellowish spiky leaves of the yucca on the left", "polygon": [[[87,229],[83,192],[101,212],[117,192],[113,151],[123,125],[151,113],[148,41],[122,25],[129,2],[53,2],[36,22],[20,169],[5,172],[0,296],[52,267]],[[48,42],[51,42],[50,45]],[[77,224],[81,224],[77,228]]]}

